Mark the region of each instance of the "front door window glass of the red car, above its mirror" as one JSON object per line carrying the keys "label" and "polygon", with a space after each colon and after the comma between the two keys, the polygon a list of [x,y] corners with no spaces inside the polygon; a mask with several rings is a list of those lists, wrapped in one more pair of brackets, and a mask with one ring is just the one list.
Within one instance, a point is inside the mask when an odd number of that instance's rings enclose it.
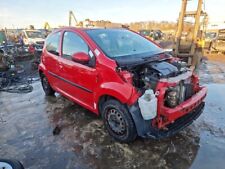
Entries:
{"label": "front door window glass of the red car, above its mirror", "polygon": [[89,47],[87,43],[74,32],[65,32],[63,36],[62,57],[71,60],[72,55],[84,52],[88,55]]}

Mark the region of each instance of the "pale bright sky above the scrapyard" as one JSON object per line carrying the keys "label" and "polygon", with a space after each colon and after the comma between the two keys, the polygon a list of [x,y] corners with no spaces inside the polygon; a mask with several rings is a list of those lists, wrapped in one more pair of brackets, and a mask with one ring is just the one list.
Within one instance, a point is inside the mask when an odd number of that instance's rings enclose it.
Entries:
{"label": "pale bright sky above the scrapyard", "polygon": [[[68,25],[72,10],[78,21],[176,21],[182,0],[0,0],[0,28]],[[225,0],[205,0],[211,22],[225,21]],[[193,0],[191,8],[197,0]]]}

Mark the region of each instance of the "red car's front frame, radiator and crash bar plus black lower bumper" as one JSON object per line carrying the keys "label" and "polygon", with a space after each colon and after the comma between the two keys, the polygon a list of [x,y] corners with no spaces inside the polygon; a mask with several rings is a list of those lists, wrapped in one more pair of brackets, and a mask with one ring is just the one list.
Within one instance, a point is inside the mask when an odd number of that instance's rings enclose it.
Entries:
{"label": "red car's front frame, radiator and crash bar plus black lower bumper", "polygon": [[163,138],[192,124],[204,109],[205,87],[198,77],[187,72],[175,78],[161,79],[156,87],[157,116],[151,120],[148,137]]}

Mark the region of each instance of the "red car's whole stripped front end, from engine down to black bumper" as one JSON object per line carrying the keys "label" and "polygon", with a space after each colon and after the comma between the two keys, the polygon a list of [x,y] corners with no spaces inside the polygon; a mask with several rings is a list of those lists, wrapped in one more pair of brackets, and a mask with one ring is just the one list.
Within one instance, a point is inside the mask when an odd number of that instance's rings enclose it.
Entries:
{"label": "red car's whole stripped front end, from engine down to black bumper", "polygon": [[[207,89],[200,86],[198,76],[182,62],[167,59],[130,70],[133,85],[140,94],[138,101],[129,106],[139,136],[169,137],[192,124],[202,113]],[[157,99],[155,115],[150,108],[147,111],[147,102],[140,101],[150,90],[154,93],[150,97]],[[146,116],[148,112],[151,114]]]}

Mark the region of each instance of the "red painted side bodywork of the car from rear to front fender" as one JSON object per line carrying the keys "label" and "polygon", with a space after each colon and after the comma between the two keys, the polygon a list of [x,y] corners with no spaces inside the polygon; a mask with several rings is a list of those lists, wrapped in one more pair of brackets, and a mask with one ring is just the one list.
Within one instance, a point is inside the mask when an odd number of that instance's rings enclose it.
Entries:
{"label": "red painted side bodywork of the car from rear to front fender", "polygon": [[[60,52],[59,56],[54,56],[47,52],[44,46],[39,69],[47,76],[52,88],[96,114],[99,114],[97,106],[99,99],[104,95],[112,96],[122,103],[131,104],[130,99],[134,87],[124,82],[115,72],[117,67],[115,61],[106,57],[82,29],[63,28],[59,29],[59,31],[61,31],[60,49],[62,49],[63,33],[71,31],[82,37],[93,53],[97,49],[99,55],[95,56],[96,65],[91,68],[62,58],[62,52]],[[75,87],[64,80],[59,80],[52,73],[86,90]]]}

